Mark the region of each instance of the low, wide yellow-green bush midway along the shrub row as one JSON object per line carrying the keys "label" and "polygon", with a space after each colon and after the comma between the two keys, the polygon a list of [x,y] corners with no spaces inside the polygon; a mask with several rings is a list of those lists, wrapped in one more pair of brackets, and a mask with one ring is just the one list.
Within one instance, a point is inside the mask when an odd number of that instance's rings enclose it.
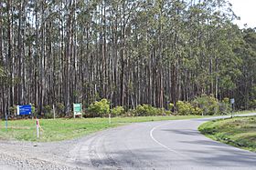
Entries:
{"label": "low, wide yellow-green bush midway along the shrub row", "polygon": [[137,116],[165,115],[165,109],[156,108],[152,105],[137,105],[133,113]]}

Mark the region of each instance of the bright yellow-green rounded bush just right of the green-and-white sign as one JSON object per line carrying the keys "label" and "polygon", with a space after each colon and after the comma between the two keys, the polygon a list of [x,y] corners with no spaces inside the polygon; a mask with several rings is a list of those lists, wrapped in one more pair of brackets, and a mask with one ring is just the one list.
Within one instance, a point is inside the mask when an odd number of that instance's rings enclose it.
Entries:
{"label": "bright yellow-green rounded bush just right of the green-and-white sign", "polygon": [[100,102],[94,102],[89,105],[88,112],[94,116],[103,116],[110,113],[110,102],[103,98]]}

